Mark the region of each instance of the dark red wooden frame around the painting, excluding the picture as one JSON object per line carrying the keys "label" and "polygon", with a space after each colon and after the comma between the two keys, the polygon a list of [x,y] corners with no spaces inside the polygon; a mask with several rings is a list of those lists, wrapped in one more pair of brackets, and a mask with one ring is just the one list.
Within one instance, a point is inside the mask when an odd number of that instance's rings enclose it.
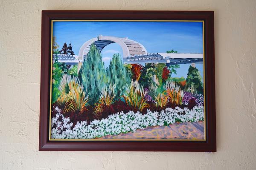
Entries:
{"label": "dark red wooden frame around the painting, excluding the picture", "polygon": [[[204,20],[206,136],[200,141],[49,141],[51,20]],[[42,11],[39,150],[216,151],[213,11]]]}

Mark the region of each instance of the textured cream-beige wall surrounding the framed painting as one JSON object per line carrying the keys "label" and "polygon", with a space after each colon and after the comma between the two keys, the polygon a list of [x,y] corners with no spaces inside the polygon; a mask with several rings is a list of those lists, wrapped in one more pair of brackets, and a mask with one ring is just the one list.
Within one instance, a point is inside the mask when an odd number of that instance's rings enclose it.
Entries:
{"label": "textured cream-beige wall surrounding the framed painting", "polygon": [[[214,10],[217,153],[38,152],[41,10]],[[0,0],[0,170],[256,169],[255,0]]]}

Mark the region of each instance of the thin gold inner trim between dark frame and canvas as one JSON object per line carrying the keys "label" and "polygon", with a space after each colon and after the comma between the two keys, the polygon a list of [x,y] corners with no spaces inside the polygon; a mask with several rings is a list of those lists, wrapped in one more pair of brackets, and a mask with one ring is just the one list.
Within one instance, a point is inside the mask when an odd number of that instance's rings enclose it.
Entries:
{"label": "thin gold inner trim between dark frame and canvas", "polygon": [[[204,139],[51,139],[52,117],[52,38],[53,22],[201,22],[203,23],[203,71],[204,71]],[[50,109],[49,109],[49,141],[206,141],[206,109],[205,109],[205,51],[204,20],[51,20],[51,75],[50,75]]]}

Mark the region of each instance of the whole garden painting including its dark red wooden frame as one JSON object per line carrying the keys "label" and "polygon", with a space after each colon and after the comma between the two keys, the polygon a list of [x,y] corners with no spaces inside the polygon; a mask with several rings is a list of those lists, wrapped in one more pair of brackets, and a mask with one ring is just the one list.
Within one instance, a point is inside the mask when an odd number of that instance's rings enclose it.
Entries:
{"label": "whole garden painting including its dark red wooden frame", "polygon": [[213,11],[42,11],[39,150],[216,151]]}

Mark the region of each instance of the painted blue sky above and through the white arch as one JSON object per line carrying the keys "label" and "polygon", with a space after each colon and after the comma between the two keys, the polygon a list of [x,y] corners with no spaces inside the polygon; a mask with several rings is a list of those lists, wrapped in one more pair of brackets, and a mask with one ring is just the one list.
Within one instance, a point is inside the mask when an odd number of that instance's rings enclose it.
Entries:
{"label": "painted blue sky above and through the white arch", "polygon": [[[144,45],[148,53],[169,50],[178,53],[203,53],[203,31],[201,22],[54,22],[53,36],[62,48],[64,42],[71,42],[77,55],[81,45],[93,37],[128,37]],[[114,53],[122,55],[122,48],[116,43],[106,46],[101,54],[107,66]],[[185,67],[186,66],[186,67]],[[189,65],[182,65],[177,75],[186,77]],[[202,66],[196,67],[203,73]],[[203,77],[203,76],[202,76]]]}

